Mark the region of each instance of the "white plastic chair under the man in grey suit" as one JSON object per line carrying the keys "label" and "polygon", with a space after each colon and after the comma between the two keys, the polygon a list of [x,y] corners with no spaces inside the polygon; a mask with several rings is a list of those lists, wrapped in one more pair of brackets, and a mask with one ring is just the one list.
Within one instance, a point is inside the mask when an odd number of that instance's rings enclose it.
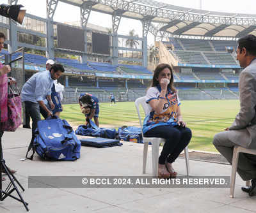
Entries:
{"label": "white plastic chair under the man in grey suit", "polygon": [[[234,198],[234,190],[236,184],[236,171],[237,171],[237,164],[239,160],[239,152],[248,153],[248,154],[255,154],[255,149],[246,149],[243,147],[235,146],[233,151],[233,158],[232,158],[232,173],[231,173],[231,182],[230,182],[230,198]],[[246,180],[246,186],[250,186],[250,180]]]}

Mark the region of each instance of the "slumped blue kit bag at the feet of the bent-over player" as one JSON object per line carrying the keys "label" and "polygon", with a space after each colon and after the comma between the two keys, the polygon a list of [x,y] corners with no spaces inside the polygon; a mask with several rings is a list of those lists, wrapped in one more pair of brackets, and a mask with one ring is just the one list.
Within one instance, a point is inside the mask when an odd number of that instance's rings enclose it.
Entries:
{"label": "slumped blue kit bag at the feet of the bent-over player", "polygon": [[99,128],[92,120],[90,120],[87,126],[78,126],[76,135],[114,139],[116,138],[116,129]]}

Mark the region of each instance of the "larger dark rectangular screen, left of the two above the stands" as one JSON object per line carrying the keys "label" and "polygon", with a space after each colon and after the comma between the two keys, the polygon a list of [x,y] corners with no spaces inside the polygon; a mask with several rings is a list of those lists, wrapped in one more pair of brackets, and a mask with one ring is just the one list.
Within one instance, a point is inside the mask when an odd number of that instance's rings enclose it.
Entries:
{"label": "larger dark rectangular screen, left of the two above the stands", "polygon": [[57,25],[58,48],[84,52],[84,30],[65,25]]}

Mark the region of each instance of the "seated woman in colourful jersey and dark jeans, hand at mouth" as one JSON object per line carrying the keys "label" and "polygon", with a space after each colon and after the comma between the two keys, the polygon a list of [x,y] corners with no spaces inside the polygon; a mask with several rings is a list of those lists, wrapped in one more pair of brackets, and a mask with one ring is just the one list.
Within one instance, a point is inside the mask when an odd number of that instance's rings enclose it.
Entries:
{"label": "seated woman in colourful jersey and dark jeans, hand at mouth", "polygon": [[177,172],[172,163],[186,148],[192,134],[182,120],[180,101],[177,90],[173,87],[173,71],[170,65],[159,64],[156,67],[146,99],[150,105],[150,114],[145,117],[143,135],[166,140],[159,156],[158,177],[175,178]]}

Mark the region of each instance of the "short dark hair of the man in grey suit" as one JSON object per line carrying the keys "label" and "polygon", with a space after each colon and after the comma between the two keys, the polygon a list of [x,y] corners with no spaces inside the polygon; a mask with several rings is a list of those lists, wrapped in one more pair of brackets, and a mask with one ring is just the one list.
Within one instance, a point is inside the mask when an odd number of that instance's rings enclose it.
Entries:
{"label": "short dark hair of the man in grey suit", "polygon": [[256,36],[248,34],[247,36],[239,38],[237,43],[240,51],[242,48],[246,48],[246,52],[248,52],[249,55],[256,56]]}

